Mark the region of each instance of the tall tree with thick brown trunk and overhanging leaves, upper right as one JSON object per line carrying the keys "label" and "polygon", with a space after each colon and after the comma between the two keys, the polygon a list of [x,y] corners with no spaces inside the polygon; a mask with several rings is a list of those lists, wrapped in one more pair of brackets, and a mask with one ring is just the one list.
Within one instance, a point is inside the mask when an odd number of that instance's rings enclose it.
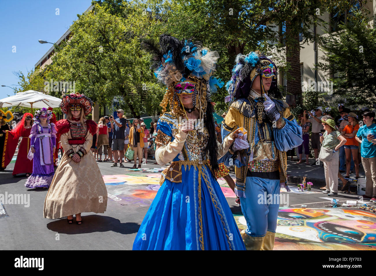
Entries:
{"label": "tall tree with thick brown trunk and overhanging leaves, upper right", "polygon": [[[361,1],[362,2],[362,1]],[[296,104],[302,105],[300,45],[299,37],[304,43],[314,43],[317,48],[322,37],[315,32],[318,27],[327,27],[320,16],[338,10],[350,9],[358,3],[357,0],[261,0],[257,2],[264,10],[264,17],[277,26],[285,26],[285,32],[279,33],[277,49],[286,55],[287,94],[294,95]],[[361,3],[363,5],[363,3]],[[265,8],[267,7],[267,8]]]}

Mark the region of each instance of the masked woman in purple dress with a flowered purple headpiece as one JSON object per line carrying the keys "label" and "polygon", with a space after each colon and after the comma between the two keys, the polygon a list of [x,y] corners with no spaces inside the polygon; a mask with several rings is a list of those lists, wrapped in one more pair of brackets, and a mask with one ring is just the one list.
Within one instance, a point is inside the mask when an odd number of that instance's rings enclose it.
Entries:
{"label": "masked woman in purple dress with a flowered purple headpiece", "polygon": [[[48,188],[54,175],[53,154],[56,150],[56,128],[50,123],[52,112],[42,108],[35,112],[31,128],[30,152],[28,158],[33,160],[33,173],[27,178],[28,188]],[[32,156],[33,155],[33,156]]]}

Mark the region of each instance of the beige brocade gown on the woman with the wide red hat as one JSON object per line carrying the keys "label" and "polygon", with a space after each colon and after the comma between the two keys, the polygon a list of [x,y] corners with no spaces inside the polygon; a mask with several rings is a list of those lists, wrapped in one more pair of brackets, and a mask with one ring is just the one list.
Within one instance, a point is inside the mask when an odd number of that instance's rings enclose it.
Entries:
{"label": "beige brocade gown on the woman with the wide red hat", "polygon": [[[73,130],[72,130],[73,131]],[[86,133],[83,145],[70,145],[71,131],[61,135],[63,157],[56,169],[52,184],[44,201],[44,217],[58,219],[78,213],[104,213],[107,208],[107,189],[96,160],[91,153],[92,135]],[[65,152],[80,147],[87,154],[76,163]]]}

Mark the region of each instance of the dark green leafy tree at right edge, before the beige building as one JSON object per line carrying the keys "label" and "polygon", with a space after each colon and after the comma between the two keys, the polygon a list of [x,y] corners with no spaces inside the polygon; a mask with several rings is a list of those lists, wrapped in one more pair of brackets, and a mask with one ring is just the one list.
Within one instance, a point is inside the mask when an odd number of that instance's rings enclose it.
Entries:
{"label": "dark green leafy tree at right edge, before the beige building", "polygon": [[376,107],[376,24],[371,28],[368,22],[353,18],[340,25],[340,32],[325,39],[319,66],[332,73],[334,96],[349,105]]}

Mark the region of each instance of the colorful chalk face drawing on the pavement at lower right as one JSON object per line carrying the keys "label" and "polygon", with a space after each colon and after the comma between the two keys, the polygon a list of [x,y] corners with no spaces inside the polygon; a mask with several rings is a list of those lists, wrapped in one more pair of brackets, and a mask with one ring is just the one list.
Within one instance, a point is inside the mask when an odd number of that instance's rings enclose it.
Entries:
{"label": "colorful chalk face drawing on the pavement at lower right", "polygon": [[[240,230],[246,220],[235,215]],[[376,214],[356,208],[288,208],[278,213],[274,250],[374,250]]]}

